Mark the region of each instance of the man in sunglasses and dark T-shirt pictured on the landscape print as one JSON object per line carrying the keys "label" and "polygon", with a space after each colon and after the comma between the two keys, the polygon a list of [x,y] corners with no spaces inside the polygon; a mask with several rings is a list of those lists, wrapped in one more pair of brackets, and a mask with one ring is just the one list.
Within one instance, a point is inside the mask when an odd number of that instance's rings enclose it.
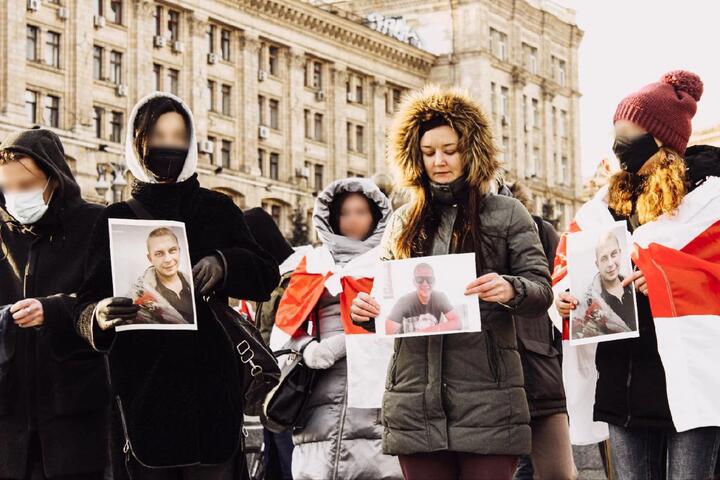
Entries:
{"label": "man in sunglasses and dark T-shirt pictured on the landscape print", "polygon": [[415,291],[400,297],[385,322],[388,334],[460,330],[462,322],[447,295],[435,291],[435,272],[427,263],[413,270]]}

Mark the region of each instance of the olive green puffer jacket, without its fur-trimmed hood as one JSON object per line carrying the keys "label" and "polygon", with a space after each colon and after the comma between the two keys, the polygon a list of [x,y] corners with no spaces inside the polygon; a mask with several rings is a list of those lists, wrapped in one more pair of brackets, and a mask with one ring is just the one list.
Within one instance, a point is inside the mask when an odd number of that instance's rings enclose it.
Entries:
{"label": "olive green puffer jacket, without its fur-trimmed hood", "polygon": [[[494,194],[484,201],[478,220],[494,251],[477,249],[477,274],[505,276],[516,296],[508,306],[480,301],[480,333],[396,340],[382,406],[385,453],[530,453],[513,317],[548,309],[550,275],[533,220],[520,202]],[[382,242],[386,259],[395,258],[392,246],[406,214],[401,207],[390,221]],[[475,251],[467,238],[458,245],[451,253]]]}

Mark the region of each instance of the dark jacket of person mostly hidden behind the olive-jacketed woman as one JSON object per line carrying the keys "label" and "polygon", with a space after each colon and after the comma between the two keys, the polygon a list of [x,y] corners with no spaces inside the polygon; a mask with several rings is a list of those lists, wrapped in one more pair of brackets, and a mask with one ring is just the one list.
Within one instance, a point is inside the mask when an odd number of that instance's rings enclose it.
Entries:
{"label": "dark jacket of person mostly hidden behind the olive-jacketed woman", "polygon": [[[552,268],[560,237],[553,226],[533,216],[540,242]],[[515,317],[518,350],[525,376],[530,417],[538,418],[566,413],[562,378],[562,338],[555,331],[547,313],[532,317]]]}

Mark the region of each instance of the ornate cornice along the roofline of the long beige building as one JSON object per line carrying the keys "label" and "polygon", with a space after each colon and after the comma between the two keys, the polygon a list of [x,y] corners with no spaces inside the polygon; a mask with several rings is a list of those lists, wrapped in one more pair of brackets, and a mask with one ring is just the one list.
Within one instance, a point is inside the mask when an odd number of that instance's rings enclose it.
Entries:
{"label": "ornate cornice along the roofline of the long beige building", "polygon": [[436,57],[432,53],[298,0],[239,0],[238,5],[249,14],[289,23],[304,32],[363,51],[421,76],[427,76],[435,63]]}

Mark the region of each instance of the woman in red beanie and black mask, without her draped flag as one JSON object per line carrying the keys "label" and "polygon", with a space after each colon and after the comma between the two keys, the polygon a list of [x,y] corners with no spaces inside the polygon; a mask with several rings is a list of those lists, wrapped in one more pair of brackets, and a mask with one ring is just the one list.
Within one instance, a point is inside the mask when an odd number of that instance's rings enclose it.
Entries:
{"label": "woman in red beanie and black mask, without her draped flag", "polygon": [[[603,202],[631,232],[674,216],[689,192],[708,177],[720,176],[719,148],[687,147],[702,93],[700,77],[675,70],[618,104],[613,151],[621,170],[610,178]],[[660,478],[665,470],[668,478],[711,478],[720,428],[676,431],[647,282],[641,272],[634,278],[640,336],[598,344],[593,420],[609,424],[621,478]],[[687,281],[697,280],[689,276]],[[699,282],[697,288],[705,285]],[[555,304],[565,318],[580,308],[570,292],[558,295]]]}

